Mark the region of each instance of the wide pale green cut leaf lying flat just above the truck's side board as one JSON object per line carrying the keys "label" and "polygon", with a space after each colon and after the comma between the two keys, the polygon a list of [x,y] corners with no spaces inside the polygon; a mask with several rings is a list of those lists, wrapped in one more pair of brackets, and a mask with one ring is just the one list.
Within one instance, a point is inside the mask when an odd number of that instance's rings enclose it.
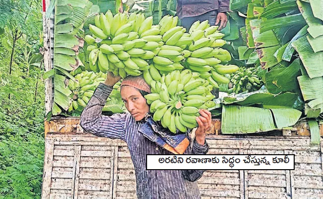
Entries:
{"label": "wide pale green cut leaf lying flat just above the truck's side board", "polygon": [[223,105],[221,131],[223,134],[242,134],[281,129],[294,125],[301,114],[292,108]]}

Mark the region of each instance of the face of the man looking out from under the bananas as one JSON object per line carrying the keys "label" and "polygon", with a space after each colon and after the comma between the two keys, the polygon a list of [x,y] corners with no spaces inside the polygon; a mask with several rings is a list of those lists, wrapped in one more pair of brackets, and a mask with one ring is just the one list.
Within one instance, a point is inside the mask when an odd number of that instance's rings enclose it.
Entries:
{"label": "face of the man looking out from under the bananas", "polygon": [[125,103],[127,110],[136,121],[142,120],[149,112],[149,105],[140,92],[130,86],[123,86],[121,89],[121,98]]}

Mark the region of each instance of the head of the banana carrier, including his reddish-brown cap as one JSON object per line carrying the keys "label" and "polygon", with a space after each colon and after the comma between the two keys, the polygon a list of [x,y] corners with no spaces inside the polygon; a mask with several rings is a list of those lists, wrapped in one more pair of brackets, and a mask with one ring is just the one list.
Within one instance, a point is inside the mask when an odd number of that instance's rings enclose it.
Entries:
{"label": "head of the banana carrier, including his reddish-brown cap", "polygon": [[121,83],[121,98],[136,121],[142,120],[149,112],[149,105],[144,98],[149,93],[150,87],[142,76],[128,76]]}

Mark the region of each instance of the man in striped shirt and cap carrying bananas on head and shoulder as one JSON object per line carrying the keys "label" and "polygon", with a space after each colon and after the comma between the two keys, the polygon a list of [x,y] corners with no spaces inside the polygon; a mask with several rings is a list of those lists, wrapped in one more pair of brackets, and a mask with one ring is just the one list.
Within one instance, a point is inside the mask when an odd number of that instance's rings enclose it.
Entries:
{"label": "man in striped shirt and cap carrying bananas on head and shoulder", "polygon": [[141,77],[128,76],[121,83],[121,98],[129,112],[101,114],[113,85],[120,80],[108,72],[81,114],[81,127],[100,137],[124,140],[135,167],[138,199],[200,199],[197,180],[204,170],[146,170],[147,154],[196,154],[208,152],[205,132],[211,128],[211,113],[201,109],[196,117],[195,138],[189,132],[169,133],[153,120],[145,95],[150,86]]}

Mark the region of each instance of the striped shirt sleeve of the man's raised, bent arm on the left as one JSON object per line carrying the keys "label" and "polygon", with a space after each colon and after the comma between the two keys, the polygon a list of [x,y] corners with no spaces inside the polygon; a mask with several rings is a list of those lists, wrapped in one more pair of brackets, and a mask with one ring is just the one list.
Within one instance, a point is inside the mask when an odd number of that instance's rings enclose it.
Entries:
{"label": "striped shirt sleeve of the man's raised, bent arm on the left", "polygon": [[82,111],[80,125],[85,132],[93,135],[125,141],[126,114],[102,115],[102,108],[112,89],[110,86],[99,84]]}

